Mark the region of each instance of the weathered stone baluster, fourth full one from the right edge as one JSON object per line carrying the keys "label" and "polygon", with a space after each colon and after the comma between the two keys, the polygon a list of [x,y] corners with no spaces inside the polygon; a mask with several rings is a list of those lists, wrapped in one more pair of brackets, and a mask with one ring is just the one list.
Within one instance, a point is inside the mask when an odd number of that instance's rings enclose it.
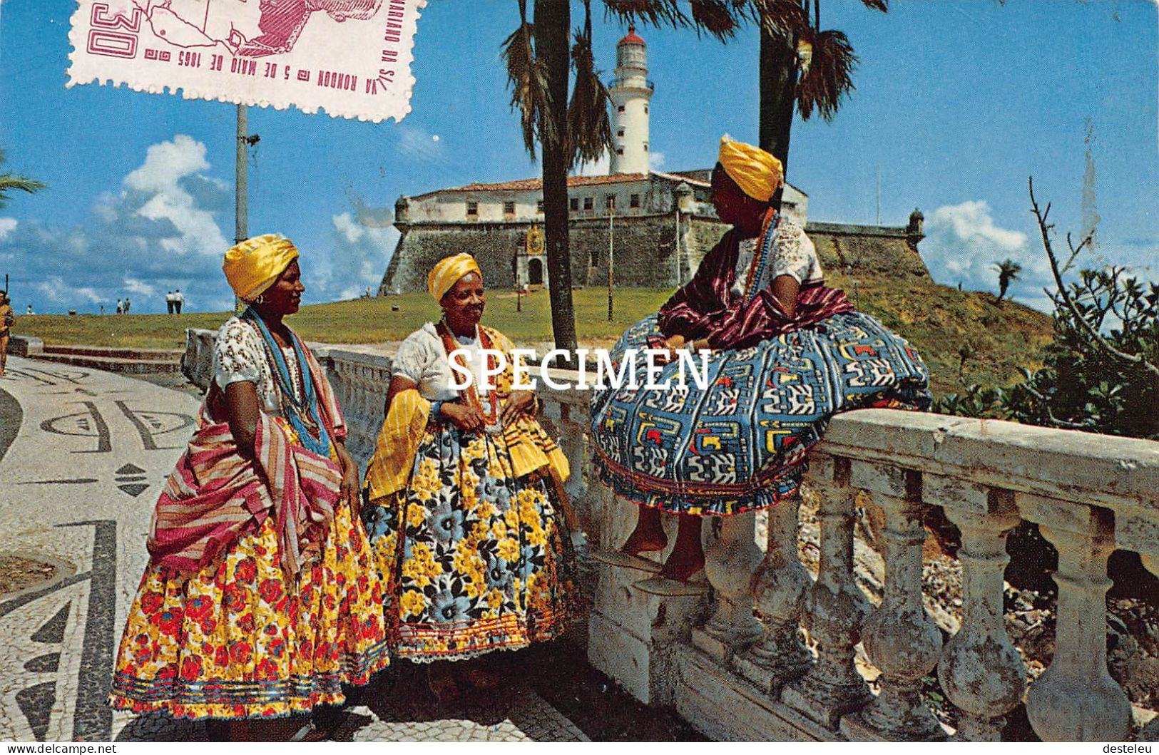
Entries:
{"label": "weathered stone baluster, fourth full one from the right edge", "polygon": [[[817,464],[817,461],[812,462]],[[831,474],[824,474],[829,471]],[[790,682],[781,699],[814,721],[836,730],[841,717],[872,699],[853,666],[853,648],[869,602],[853,578],[853,504],[850,461],[834,459],[816,475],[821,485],[821,566],[806,602],[804,620],[817,642],[817,665]]]}

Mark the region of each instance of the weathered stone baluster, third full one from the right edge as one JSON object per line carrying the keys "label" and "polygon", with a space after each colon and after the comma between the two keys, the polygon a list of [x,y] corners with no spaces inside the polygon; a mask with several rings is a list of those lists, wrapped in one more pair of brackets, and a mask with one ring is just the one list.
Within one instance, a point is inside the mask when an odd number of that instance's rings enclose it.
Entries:
{"label": "weathered stone baluster, third full one from the right edge", "polygon": [[[921,604],[921,475],[896,467],[853,463],[853,485],[885,512],[885,594],[861,628],[866,653],[881,669],[881,692],[841,720],[851,740],[933,741],[946,738],[921,702],[921,677],[941,653],[941,632]],[[865,478],[862,481],[862,478]]]}

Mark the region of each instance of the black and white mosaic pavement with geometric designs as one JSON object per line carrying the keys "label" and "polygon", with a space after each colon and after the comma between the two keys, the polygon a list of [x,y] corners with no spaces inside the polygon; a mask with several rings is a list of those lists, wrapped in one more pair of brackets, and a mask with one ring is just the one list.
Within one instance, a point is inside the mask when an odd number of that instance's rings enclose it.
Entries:
{"label": "black and white mosaic pavement with geometric designs", "polygon": [[[0,379],[0,555],[51,564],[56,574],[0,595],[0,740],[205,738],[202,724],[114,713],[104,702],[153,504],[197,408],[139,380],[9,357]],[[530,690],[431,720],[363,697],[370,704],[349,709],[340,739],[586,739]]]}

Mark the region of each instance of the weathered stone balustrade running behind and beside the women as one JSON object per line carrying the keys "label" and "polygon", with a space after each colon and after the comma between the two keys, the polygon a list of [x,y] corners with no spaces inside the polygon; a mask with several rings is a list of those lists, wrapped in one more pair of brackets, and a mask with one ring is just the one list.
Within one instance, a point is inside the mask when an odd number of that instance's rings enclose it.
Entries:
{"label": "weathered stone balustrade running behind and beside the women", "polygon": [[[212,333],[189,332],[187,375],[205,384]],[[318,352],[365,461],[388,359]],[[591,477],[588,394],[541,388],[539,397],[571,462],[568,490],[589,543],[612,551],[635,507]],[[715,739],[989,741],[1023,701],[1043,740],[1129,735],[1130,703],[1107,670],[1107,559],[1115,549],[1135,551],[1159,574],[1159,444],[862,410],[833,418],[807,484],[819,500],[816,579],[799,560],[796,500],[770,511],[763,556],[751,514],[705,528],[710,591],[655,589],[658,560],[603,560],[589,616],[592,665]],[[854,578],[855,507],[865,497],[884,512],[876,607]],[[946,642],[923,604],[921,512],[931,505],[962,535],[963,620]],[[1006,536],[1022,520],[1037,523],[1059,554],[1056,650],[1029,688],[1003,618]],[[881,672],[876,694],[854,665],[859,643]],[[956,709],[955,732],[923,702],[931,674]],[[1140,740],[1159,740],[1159,719]]]}

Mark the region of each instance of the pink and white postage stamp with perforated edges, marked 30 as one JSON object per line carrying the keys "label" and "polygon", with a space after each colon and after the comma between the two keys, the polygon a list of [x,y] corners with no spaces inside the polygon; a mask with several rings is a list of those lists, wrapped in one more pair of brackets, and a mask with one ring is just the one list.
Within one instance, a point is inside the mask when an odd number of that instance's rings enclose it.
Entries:
{"label": "pink and white postage stamp with perforated edges, marked 30", "polygon": [[68,85],[290,105],[380,122],[410,111],[427,0],[79,0]]}

